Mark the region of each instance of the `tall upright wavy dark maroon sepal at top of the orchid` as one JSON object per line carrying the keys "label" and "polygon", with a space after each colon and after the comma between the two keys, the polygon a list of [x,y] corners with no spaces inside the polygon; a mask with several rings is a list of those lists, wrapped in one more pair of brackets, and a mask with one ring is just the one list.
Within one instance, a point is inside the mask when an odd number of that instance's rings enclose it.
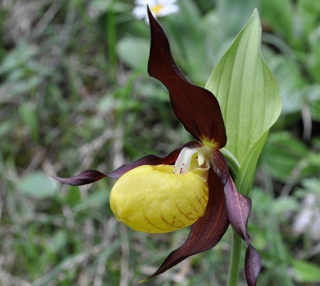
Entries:
{"label": "tall upright wavy dark maroon sepal at top of the orchid", "polygon": [[225,127],[219,103],[208,90],[191,84],[175,64],[168,39],[148,9],[151,44],[148,73],[169,90],[170,102],[176,117],[194,138],[226,143]]}

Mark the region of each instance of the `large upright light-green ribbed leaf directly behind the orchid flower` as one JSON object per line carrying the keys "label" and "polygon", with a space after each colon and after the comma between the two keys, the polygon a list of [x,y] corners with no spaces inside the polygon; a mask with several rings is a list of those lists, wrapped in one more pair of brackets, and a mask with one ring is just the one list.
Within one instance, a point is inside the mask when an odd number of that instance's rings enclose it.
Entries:
{"label": "large upright light-green ribbed leaf directly behind the orchid flower", "polygon": [[250,172],[254,172],[267,131],[281,111],[277,83],[260,53],[260,37],[259,15],[254,10],[206,84],[221,107],[228,138],[225,147],[240,165],[245,160]]}

